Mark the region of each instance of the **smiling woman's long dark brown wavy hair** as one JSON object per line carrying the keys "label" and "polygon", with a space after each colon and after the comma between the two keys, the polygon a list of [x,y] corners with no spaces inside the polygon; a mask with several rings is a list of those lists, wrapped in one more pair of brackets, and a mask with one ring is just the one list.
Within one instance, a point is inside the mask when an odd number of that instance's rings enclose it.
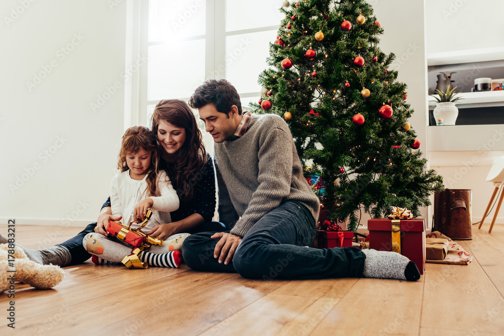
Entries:
{"label": "smiling woman's long dark brown wavy hair", "polygon": [[[161,100],[152,115],[152,132],[157,137],[159,122],[163,120],[176,127],[185,129],[185,141],[178,150],[173,167],[170,167],[170,179],[181,200],[195,196],[200,170],[207,161],[207,152],[203,145],[203,136],[193,110],[186,102],[179,99]],[[160,148],[159,151],[164,151]]]}

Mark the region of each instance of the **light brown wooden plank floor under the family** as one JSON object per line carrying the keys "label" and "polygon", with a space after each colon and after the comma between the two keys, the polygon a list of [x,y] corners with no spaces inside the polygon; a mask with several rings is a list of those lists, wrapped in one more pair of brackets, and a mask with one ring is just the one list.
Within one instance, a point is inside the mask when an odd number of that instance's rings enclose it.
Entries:
{"label": "light brown wooden plank floor under the family", "polygon": [[[486,229],[486,230],[484,230]],[[502,335],[504,225],[458,241],[467,265],[427,264],[418,282],[251,281],[180,268],[65,267],[52,290],[17,284],[16,329],[0,295],[0,335]],[[78,228],[16,226],[16,240],[52,246]],[[0,225],[0,233],[7,226]]]}

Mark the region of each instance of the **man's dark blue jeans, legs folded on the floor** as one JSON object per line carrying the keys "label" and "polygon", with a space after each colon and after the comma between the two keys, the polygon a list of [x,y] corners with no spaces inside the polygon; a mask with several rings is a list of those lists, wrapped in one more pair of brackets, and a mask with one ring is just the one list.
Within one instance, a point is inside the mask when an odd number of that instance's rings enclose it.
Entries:
{"label": "man's dark blue jeans, legs folded on the floor", "polygon": [[250,279],[362,277],[366,257],[361,250],[307,248],[314,234],[311,213],[296,201],[286,201],[245,234],[229,264],[219,263],[213,257],[218,241],[210,238],[213,232],[187,237],[182,255],[185,263],[195,270],[238,272]]}

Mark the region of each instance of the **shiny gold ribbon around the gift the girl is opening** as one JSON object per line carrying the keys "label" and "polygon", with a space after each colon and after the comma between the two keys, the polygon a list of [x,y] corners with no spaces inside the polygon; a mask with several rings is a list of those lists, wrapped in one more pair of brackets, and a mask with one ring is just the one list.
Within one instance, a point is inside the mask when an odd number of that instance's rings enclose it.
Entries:
{"label": "shiny gold ribbon around the gift the girl is opening", "polygon": [[[159,239],[159,238],[153,238],[149,236],[148,234],[142,232],[142,229],[145,227],[147,222],[152,216],[152,211],[147,210],[147,213],[144,216],[144,220],[142,223],[140,223],[140,227],[136,229],[132,229],[131,226],[135,221],[131,221],[130,225],[128,227],[124,227],[117,233],[117,238],[120,240],[124,241],[124,237],[126,234],[130,231],[137,233],[138,235],[142,236],[144,238],[144,241],[139,247],[135,247],[130,255],[125,256],[122,259],[122,263],[124,266],[131,268],[147,268],[149,264],[144,261],[140,261],[139,255],[142,251],[147,251],[149,248],[151,248],[151,245],[163,245],[164,241]],[[120,236],[119,236],[120,235]]]}

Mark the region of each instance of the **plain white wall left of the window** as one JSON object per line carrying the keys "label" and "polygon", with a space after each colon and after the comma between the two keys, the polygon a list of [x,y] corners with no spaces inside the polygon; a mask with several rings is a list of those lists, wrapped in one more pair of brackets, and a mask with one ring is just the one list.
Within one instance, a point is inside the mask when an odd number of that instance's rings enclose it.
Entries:
{"label": "plain white wall left of the window", "polygon": [[0,4],[0,223],[96,221],[123,132],[125,3]]}

